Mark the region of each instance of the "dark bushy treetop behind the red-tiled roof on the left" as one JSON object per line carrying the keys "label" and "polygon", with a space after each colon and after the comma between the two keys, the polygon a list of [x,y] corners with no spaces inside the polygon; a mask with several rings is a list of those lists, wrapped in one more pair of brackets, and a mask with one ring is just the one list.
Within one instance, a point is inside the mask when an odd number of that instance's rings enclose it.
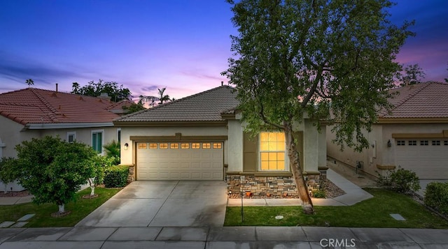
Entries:
{"label": "dark bushy treetop behind the red-tiled roof on the left", "polygon": [[88,82],[85,86],[80,86],[78,82],[73,82],[71,86],[71,93],[85,95],[85,96],[100,96],[101,93],[108,93],[113,102],[120,100],[129,100],[131,91],[127,88],[123,88],[123,84],[117,82],[104,82],[104,80],[93,80]]}

